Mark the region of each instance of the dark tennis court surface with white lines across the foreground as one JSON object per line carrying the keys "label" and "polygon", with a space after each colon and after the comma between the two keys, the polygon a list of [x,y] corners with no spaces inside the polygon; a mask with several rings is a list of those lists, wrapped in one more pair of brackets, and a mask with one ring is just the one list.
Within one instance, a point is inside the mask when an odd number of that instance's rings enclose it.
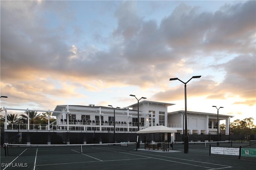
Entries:
{"label": "dark tennis court surface with white lines across the foreground", "polygon": [[[233,143],[232,147],[240,145],[243,144]],[[170,147],[169,152],[145,150],[144,145],[140,145],[136,151],[134,143],[72,147],[12,146],[8,148],[9,156],[6,157],[4,149],[1,149],[1,170],[234,170],[253,169],[256,162],[256,158],[252,157],[239,160],[238,156],[232,155],[209,156],[208,145],[202,143],[190,143],[188,154],[184,154],[181,143],[174,144],[173,149]]]}

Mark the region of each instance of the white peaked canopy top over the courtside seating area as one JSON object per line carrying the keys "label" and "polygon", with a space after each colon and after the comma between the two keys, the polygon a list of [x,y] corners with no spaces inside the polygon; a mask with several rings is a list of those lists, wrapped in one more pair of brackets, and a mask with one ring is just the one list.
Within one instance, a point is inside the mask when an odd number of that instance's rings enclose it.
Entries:
{"label": "white peaked canopy top over the courtside seating area", "polygon": [[175,133],[177,130],[166,126],[150,126],[138,131],[138,133]]}

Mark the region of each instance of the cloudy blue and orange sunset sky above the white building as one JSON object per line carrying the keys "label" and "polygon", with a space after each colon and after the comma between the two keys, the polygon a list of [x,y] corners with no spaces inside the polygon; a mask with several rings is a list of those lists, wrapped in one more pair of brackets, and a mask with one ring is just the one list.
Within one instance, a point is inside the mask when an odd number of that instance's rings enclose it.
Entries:
{"label": "cloudy blue and orange sunset sky above the white building", "polygon": [[0,107],[126,107],[133,94],[172,112],[184,84],[169,79],[201,76],[188,111],[256,124],[256,1],[1,0],[0,49]]}

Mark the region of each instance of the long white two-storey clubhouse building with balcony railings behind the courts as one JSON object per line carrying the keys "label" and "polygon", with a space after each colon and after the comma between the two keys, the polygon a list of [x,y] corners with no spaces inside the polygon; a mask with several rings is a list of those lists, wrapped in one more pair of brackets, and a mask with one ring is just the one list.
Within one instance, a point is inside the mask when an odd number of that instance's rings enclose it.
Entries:
{"label": "long white two-storey clubhouse building with balcony railings behind the courts", "polygon": [[[28,124],[7,123],[6,120],[4,131],[18,133],[137,134],[138,127],[141,130],[149,126],[164,125],[176,129],[179,134],[183,134],[184,111],[168,113],[168,107],[172,105],[174,104],[143,100],[124,108],[95,106],[94,104],[88,106],[58,105],[53,111],[4,107],[6,117],[9,110],[48,112],[56,116],[56,121],[48,122],[47,125],[31,125],[29,122]],[[230,117],[232,116],[219,114],[219,121],[226,121],[226,135],[229,132]],[[188,111],[187,118],[188,134],[217,134],[217,128],[220,125],[220,123],[217,123],[217,114]],[[50,143],[50,137],[47,138],[48,143]],[[6,143],[8,143],[8,140],[8,137],[5,137]],[[172,141],[175,141],[175,136]]]}

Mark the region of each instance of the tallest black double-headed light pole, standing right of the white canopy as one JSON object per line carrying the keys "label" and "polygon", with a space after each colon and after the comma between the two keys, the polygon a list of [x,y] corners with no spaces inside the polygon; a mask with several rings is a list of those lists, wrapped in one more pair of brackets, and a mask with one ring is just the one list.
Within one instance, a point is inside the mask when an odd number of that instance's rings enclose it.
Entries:
{"label": "tallest black double-headed light pole, standing right of the white canopy", "polygon": [[[193,76],[192,78],[200,78],[201,76]],[[187,83],[192,79],[190,78],[187,82],[183,82],[182,80],[178,79],[178,78],[170,78],[171,80],[179,80],[180,82],[182,82],[183,84],[185,84],[185,136],[184,136],[184,153],[188,153],[188,123],[187,123]]]}

